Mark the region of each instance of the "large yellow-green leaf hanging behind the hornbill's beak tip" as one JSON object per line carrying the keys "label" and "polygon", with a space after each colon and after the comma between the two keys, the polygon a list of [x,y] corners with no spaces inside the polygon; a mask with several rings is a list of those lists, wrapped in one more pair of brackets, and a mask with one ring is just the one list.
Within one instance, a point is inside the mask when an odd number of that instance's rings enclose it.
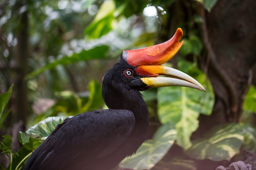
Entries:
{"label": "large yellow-green leaf hanging behind the hornbill's beak tip", "polygon": [[177,129],[177,144],[185,150],[191,146],[190,136],[198,128],[200,113],[210,115],[214,95],[205,75],[193,64],[181,60],[180,70],[197,79],[207,90],[198,91],[187,87],[165,87],[157,89],[158,115],[162,124],[171,122]]}

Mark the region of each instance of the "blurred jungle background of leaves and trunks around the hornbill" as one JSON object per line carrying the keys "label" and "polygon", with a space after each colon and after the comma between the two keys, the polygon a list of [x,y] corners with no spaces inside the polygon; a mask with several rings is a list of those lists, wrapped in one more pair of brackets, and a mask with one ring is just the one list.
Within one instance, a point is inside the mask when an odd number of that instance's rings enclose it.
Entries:
{"label": "blurred jungle background of leaves and trunks around the hornbill", "polygon": [[243,161],[243,149],[256,152],[255,9],[255,0],[1,1],[0,167],[20,169],[65,117],[106,108],[102,79],[121,52],[164,42],[178,27],[184,44],[167,64],[207,92],[143,92],[148,140],[120,167],[214,170]]}

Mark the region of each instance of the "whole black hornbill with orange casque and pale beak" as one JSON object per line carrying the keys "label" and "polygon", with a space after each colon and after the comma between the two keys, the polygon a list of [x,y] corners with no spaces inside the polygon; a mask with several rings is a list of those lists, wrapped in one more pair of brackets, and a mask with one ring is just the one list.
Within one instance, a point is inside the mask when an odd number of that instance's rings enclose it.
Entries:
{"label": "whole black hornbill with orange casque and pale beak", "polygon": [[65,119],[36,148],[23,170],[110,170],[134,154],[149,126],[148,109],[139,91],[164,86],[205,91],[189,75],[161,65],[179,51],[182,35],[178,28],[166,42],[124,50],[103,78],[102,96],[109,109]]}

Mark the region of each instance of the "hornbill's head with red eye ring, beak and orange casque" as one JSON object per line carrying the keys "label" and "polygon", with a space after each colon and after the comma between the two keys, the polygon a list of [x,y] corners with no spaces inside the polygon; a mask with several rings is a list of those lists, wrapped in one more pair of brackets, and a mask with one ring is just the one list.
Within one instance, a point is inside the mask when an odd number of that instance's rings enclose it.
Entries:
{"label": "hornbill's head with red eye ring, beak and orange casque", "polygon": [[171,60],[180,50],[183,44],[183,41],[180,42],[182,35],[182,29],[178,28],[175,35],[166,42],[143,49],[124,50],[119,62],[108,71],[104,79],[111,79],[115,88],[125,87],[138,91],[165,86],[186,86],[205,91],[193,77],[161,65]]}

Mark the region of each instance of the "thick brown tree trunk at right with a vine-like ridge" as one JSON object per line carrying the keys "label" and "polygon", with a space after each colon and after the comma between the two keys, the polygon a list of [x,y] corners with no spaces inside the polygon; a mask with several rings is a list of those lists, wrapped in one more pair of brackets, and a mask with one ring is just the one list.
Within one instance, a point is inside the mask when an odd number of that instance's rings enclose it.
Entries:
{"label": "thick brown tree trunk at right with a vine-like ridge", "polygon": [[204,131],[241,119],[256,63],[255,9],[255,0],[219,0],[210,13],[199,12],[204,18],[202,69],[216,95],[211,116],[200,116]]}

